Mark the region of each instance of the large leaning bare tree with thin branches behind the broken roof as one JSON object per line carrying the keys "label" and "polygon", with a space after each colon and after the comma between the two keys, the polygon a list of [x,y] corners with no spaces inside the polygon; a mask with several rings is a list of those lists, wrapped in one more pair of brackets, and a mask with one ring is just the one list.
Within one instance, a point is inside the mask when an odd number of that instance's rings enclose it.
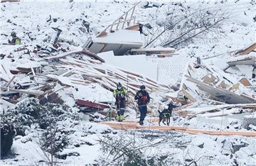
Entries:
{"label": "large leaning bare tree with thin branches behind the broken roof", "polygon": [[[191,6],[179,6],[179,9],[169,7],[165,11],[164,19],[156,22],[156,28],[152,28],[146,38],[146,45],[164,47],[177,47],[193,43],[196,38],[208,39],[206,35],[217,39],[223,23],[229,18],[229,14],[219,9],[193,8]],[[156,18],[157,19],[157,18]],[[150,39],[149,39],[150,38]]]}

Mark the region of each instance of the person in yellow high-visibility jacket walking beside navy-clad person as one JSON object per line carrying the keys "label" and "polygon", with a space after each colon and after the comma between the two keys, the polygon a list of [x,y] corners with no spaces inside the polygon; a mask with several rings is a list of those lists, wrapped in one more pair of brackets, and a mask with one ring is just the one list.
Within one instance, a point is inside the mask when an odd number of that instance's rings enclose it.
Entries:
{"label": "person in yellow high-visibility jacket walking beside navy-clad person", "polygon": [[122,87],[119,82],[117,84],[117,89],[114,90],[114,97],[116,99],[115,104],[117,106],[117,121],[123,121],[124,111],[125,111],[125,101],[126,101],[127,90]]}

